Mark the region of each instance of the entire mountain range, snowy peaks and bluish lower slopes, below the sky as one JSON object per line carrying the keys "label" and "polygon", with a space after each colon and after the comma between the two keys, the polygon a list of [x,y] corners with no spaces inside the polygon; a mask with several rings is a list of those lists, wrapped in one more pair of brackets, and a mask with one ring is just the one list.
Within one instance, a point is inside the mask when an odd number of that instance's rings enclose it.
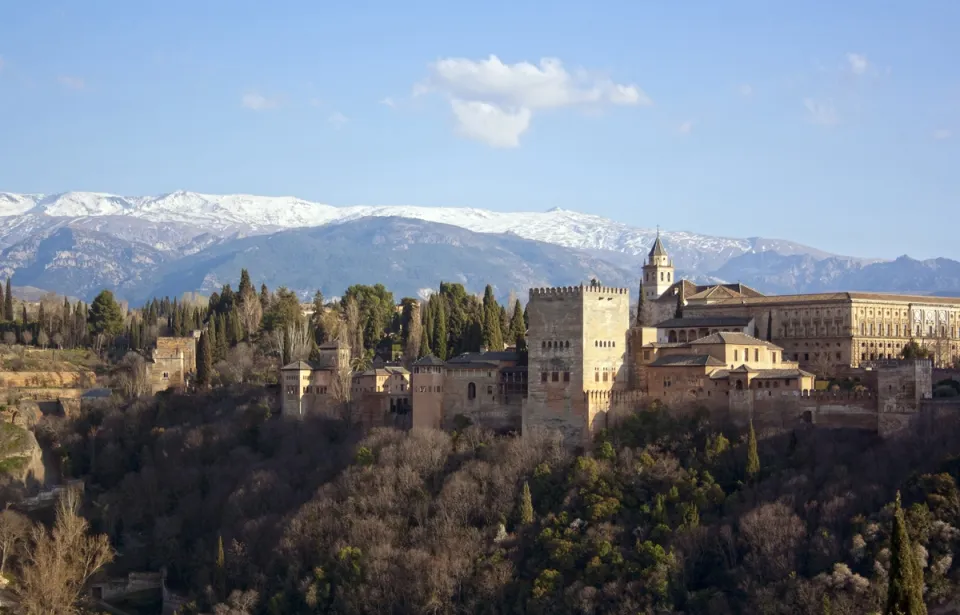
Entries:
{"label": "entire mountain range, snowy peaks and bluish lower slopes, below the sky", "polygon": [[[334,296],[383,282],[398,296],[441,280],[521,296],[590,278],[634,287],[656,231],[552,209],[333,207],[293,197],[0,193],[0,275],[90,300],[101,289],[136,304],[212,292],[241,268],[271,288]],[[664,231],[678,276],[742,282],[765,293],[871,290],[960,293],[960,263],[879,261],[795,242]]]}

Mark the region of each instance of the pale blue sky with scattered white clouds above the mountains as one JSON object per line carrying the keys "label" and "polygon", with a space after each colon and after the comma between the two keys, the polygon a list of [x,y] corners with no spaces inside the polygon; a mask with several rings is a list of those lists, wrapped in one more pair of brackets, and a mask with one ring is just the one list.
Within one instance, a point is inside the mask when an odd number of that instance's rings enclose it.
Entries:
{"label": "pale blue sky with scattered white clouds above the mountains", "polygon": [[0,2],[0,191],[960,259],[960,2]]}

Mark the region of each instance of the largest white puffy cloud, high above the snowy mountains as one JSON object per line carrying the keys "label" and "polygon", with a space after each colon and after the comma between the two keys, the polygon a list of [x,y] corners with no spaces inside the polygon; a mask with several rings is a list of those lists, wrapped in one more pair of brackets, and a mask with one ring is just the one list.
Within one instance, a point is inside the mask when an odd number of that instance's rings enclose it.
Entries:
{"label": "largest white puffy cloud, high above the snowy mountains", "polygon": [[446,58],[430,66],[430,77],[414,86],[414,96],[428,92],[447,96],[457,131],[494,147],[517,147],[541,109],[572,106],[649,106],[653,102],[636,85],[614,83],[585,70],[568,72],[556,58],[539,64],[504,64]]}

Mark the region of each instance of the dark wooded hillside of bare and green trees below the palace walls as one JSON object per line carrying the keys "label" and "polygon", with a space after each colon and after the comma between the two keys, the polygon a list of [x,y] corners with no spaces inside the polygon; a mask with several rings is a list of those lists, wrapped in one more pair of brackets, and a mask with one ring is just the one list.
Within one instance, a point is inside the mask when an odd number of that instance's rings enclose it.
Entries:
{"label": "dark wooded hillside of bare and green trees below the palace walls", "polygon": [[863,614],[883,612],[891,561],[920,587],[904,553],[929,604],[957,589],[956,423],[754,436],[653,407],[575,455],[476,427],[361,438],[270,417],[266,395],[45,419],[99,493],[114,572],[165,566],[190,612],[221,614]]}

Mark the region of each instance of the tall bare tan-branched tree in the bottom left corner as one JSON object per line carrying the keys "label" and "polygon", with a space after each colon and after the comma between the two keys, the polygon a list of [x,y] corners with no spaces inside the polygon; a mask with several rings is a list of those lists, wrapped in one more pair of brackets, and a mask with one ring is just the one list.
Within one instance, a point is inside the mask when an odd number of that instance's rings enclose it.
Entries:
{"label": "tall bare tan-branched tree in the bottom left corner", "polygon": [[20,607],[26,615],[77,615],[91,577],[113,560],[105,534],[87,534],[78,514],[80,492],[68,489],[57,504],[52,530],[37,524],[20,575]]}

